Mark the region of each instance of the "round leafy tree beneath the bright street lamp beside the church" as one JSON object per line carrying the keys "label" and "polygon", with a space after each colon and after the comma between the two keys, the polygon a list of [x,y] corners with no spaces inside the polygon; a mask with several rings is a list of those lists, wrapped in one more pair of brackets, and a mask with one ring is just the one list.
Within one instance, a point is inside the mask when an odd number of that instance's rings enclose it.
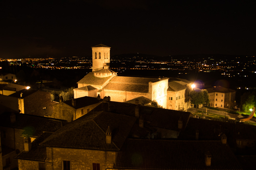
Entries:
{"label": "round leafy tree beneath the bright street lamp beside the church", "polygon": [[196,112],[197,112],[197,105],[204,104],[208,105],[210,103],[209,95],[207,90],[200,90],[195,88],[189,93],[190,102],[196,105]]}

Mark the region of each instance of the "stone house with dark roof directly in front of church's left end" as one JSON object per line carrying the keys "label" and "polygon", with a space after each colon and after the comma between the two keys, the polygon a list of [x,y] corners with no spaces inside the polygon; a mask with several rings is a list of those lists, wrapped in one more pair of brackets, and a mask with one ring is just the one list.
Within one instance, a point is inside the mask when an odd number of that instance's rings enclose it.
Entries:
{"label": "stone house with dark roof directly in front of church's left end", "polygon": [[96,106],[101,104],[102,100],[95,97],[80,97],[76,99],[61,101],[52,105],[51,118],[63,119],[71,122],[77,118],[87,114]]}

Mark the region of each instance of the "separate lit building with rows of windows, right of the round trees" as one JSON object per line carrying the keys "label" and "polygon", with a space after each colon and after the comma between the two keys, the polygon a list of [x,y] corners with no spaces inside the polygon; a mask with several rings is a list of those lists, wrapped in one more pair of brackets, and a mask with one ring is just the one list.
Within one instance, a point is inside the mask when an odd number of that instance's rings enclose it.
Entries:
{"label": "separate lit building with rows of windows, right of the round trees", "polygon": [[221,86],[206,88],[209,94],[210,106],[233,109],[236,91]]}

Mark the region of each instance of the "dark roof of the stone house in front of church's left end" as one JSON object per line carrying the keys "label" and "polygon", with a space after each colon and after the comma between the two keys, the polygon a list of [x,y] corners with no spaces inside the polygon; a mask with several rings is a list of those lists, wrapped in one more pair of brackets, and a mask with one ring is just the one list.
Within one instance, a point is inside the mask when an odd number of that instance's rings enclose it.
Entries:
{"label": "dark roof of the stone house in front of church's left end", "polygon": [[90,105],[101,102],[96,97],[89,97],[89,96],[79,97],[79,98],[76,98],[75,100],[76,100],[76,106],[72,105],[72,99],[63,101],[63,103],[66,103],[67,105],[73,107],[74,109],[79,109],[82,107],[90,106]]}

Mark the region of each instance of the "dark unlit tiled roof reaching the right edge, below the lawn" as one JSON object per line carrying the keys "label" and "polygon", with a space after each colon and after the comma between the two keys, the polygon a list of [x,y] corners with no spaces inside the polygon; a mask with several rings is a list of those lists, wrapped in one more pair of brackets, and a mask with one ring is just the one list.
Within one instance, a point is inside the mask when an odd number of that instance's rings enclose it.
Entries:
{"label": "dark unlit tiled roof reaching the right edge, below the lawn", "polygon": [[195,140],[196,130],[199,130],[199,140],[220,140],[221,134],[227,136],[231,148],[236,147],[236,139],[256,141],[256,127],[247,124],[190,118],[184,133],[179,138]]}

